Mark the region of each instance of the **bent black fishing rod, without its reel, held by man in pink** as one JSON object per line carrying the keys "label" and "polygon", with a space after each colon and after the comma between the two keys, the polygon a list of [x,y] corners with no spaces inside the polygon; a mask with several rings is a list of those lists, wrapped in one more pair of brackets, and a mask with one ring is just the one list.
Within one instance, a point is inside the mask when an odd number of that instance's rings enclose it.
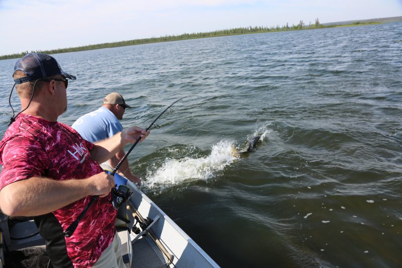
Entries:
{"label": "bent black fishing rod, without its reel, held by man in pink", "polygon": [[[165,110],[163,110],[163,112],[160,113],[160,115],[157,118],[155,118],[155,120],[145,129],[145,131],[148,131],[152,126],[154,126],[156,129],[160,128],[160,126],[155,125],[156,120],[158,120],[159,117],[161,117],[170,107],[172,107],[175,103],[177,103],[178,101],[182,100],[183,98],[185,98],[185,97],[182,97],[182,98],[176,100],[171,105],[169,105]],[[109,173],[112,176],[114,176],[116,171],[120,168],[120,166],[122,165],[124,160],[126,160],[127,156],[131,153],[131,151],[134,149],[134,147],[140,142],[140,140],[141,140],[141,137],[138,137],[136,142],[130,147],[130,149],[123,156],[123,158],[120,160],[120,162],[116,165],[116,167],[113,169],[113,171],[112,172],[107,172],[107,173]],[[116,189],[116,186],[114,187],[114,189]],[[112,189],[112,191],[114,191],[114,189]],[[65,237],[70,237],[74,233],[75,229],[78,227],[79,221],[82,219],[82,217],[85,215],[86,211],[90,208],[90,206],[93,204],[93,202],[95,202],[95,200],[97,198],[98,198],[98,196],[92,196],[91,197],[91,200],[89,201],[88,205],[86,205],[85,209],[81,212],[81,214],[79,214],[78,218],[75,221],[73,221],[71,223],[71,225],[68,226],[67,229],[64,231],[64,236]]]}

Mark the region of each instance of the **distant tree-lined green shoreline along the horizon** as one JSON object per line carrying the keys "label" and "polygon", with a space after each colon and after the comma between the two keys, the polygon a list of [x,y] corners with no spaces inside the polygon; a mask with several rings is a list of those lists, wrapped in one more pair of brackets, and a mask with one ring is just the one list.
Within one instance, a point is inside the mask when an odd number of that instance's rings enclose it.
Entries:
{"label": "distant tree-lined green shoreline along the horizon", "polygon": [[[379,19],[347,21],[347,22],[338,22],[338,23],[325,23],[325,24],[320,24],[319,20],[316,19],[316,22],[314,24],[310,23],[309,25],[306,25],[303,21],[300,21],[299,24],[292,25],[292,26],[289,26],[287,23],[284,26],[277,25],[277,26],[272,26],[272,27],[261,27],[261,26],[251,27],[250,26],[250,27],[245,27],[245,28],[217,30],[217,31],[205,32],[205,33],[192,33],[192,34],[185,33],[185,34],[173,35],[173,36],[167,35],[167,36],[161,36],[161,37],[133,39],[133,40],[128,40],[128,41],[110,42],[110,43],[102,43],[102,44],[95,44],[95,45],[70,47],[70,48],[59,48],[59,49],[51,49],[51,50],[37,50],[37,51],[31,51],[31,52],[45,53],[45,54],[57,54],[57,53],[78,52],[78,51],[84,51],[84,50],[112,48],[112,47],[121,47],[121,46],[132,46],[132,45],[140,45],[140,44],[151,44],[151,43],[179,41],[179,40],[188,40],[188,39],[197,39],[197,38],[220,37],[220,36],[242,35],[242,34],[256,34],[256,33],[270,33],[270,32],[283,32],[283,31],[297,31],[297,30],[311,30],[311,29],[323,29],[323,28],[334,28],[334,27],[365,26],[365,25],[372,25],[372,24],[395,22],[395,21],[402,21],[402,17],[379,18]],[[21,58],[27,53],[29,53],[29,52],[24,51],[21,53],[1,55],[0,60]]]}

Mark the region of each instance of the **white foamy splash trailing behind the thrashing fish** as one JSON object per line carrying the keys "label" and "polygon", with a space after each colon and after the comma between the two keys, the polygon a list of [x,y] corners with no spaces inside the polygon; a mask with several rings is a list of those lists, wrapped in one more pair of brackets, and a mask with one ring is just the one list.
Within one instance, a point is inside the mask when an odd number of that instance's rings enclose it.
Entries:
{"label": "white foamy splash trailing behind the thrashing fish", "polygon": [[206,157],[165,159],[162,166],[147,177],[144,185],[153,188],[178,185],[184,181],[208,180],[235,159],[233,142],[220,141],[212,146],[211,154]]}

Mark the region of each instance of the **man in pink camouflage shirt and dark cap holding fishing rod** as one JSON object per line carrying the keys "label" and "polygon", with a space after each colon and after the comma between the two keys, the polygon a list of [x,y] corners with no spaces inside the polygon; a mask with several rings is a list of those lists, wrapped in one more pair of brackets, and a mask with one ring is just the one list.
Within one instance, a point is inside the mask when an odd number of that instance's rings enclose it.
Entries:
{"label": "man in pink camouflage shirt and dark cap holding fishing rod", "polygon": [[[25,55],[14,70],[25,109],[11,119],[0,142],[1,210],[9,216],[33,216],[53,267],[124,267],[114,227],[116,210],[110,202],[115,181],[98,163],[125,144],[145,139],[149,131],[131,127],[92,144],[57,122],[67,108],[67,79],[75,76],[40,53]],[[99,198],[75,232],[65,237],[63,232],[91,196]]]}

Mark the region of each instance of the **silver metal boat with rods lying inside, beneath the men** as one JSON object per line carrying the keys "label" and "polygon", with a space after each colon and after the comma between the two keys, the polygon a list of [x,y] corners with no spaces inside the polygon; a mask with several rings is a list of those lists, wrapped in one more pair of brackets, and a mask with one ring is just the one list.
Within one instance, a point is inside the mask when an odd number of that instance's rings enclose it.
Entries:
{"label": "silver metal boat with rods lying inside, beneath the men", "polygon": [[[115,224],[127,268],[219,267],[137,186],[128,187],[133,195],[119,208]],[[0,228],[0,268],[52,267],[32,218],[0,213]]]}

